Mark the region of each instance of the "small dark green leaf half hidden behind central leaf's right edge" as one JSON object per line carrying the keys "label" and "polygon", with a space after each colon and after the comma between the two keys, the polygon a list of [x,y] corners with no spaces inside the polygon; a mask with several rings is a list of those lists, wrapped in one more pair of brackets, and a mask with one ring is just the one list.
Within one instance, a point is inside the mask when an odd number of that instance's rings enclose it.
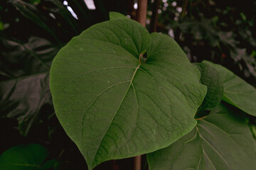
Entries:
{"label": "small dark green leaf half hidden behind central leaf's right edge", "polygon": [[217,106],[223,97],[223,81],[214,67],[206,63],[196,63],[201,72],[201,84],[207,86],[207,94],[203,100],[201,111]]}

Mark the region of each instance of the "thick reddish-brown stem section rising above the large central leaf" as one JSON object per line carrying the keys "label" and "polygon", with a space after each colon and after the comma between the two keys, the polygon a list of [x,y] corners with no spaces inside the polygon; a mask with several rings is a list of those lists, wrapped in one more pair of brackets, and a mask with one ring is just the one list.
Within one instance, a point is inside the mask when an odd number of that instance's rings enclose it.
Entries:
{"label": "thick reddish-brown stem section rising above the large central leaf", "polygon": [[147,0],[138,1],[137,21],[141,23],[142,26],[146,26],[146,6]]}

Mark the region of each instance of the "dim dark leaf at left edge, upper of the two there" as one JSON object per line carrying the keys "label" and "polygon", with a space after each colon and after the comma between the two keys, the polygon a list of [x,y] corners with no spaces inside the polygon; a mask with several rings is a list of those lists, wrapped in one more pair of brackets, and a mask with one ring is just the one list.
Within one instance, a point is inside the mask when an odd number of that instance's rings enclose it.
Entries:
{"label": "dim dark leaf at left edge, upper of the two there", "polygon": [[59,50],[53,43],[36,36],[31,36],[27,42],[4,36],[0,40],[1,80],[48,72]]}

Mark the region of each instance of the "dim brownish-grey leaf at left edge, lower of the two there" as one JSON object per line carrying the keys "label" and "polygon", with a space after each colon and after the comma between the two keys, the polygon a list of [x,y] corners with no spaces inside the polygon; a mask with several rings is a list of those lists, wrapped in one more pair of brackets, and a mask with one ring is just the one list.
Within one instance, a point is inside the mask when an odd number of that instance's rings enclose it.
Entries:
{"label": "dim brownish-grey leaf at left edge, lower of the two there", "polygon": [[51,106],[49,74],[35,74],[20,79],[1,81],[1,118],[16,118],[19,130],[26,136],[40,125],[41,117],[47,118]]}

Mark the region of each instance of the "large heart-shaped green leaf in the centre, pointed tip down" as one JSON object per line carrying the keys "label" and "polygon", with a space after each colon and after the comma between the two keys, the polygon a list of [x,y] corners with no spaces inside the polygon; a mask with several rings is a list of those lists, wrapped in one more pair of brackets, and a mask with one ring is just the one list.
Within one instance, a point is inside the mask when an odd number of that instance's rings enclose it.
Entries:
{"label": "large heart-shaped green leaf in the centre, pointed tip down", "polygon": [[88,28],[60,50],[50,90],[60,124],[92,169],[167,147],[190,132],[206,95],[199,79],[174,40],[114,19]]}

